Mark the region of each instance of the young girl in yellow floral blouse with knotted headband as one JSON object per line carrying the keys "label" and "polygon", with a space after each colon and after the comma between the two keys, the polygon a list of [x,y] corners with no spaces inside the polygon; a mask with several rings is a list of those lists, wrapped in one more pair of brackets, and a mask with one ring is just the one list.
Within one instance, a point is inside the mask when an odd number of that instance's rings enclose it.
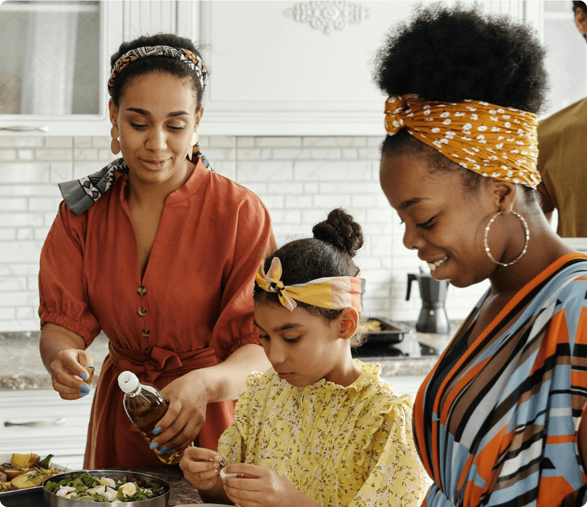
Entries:
{"label": "young girl in yellow floral blouse with knotted headband", "polygon": [[[419,505],[426,478],[409,396],[353,360],[364,280],[359,224],[342,209],[259,268],[255,324],[272,364],[248,377],[218,452],[185,449],[204,502],[242,507]],[[356,341],[356,339],[355,339]],[[222,481],[218,472],[238,474]]]}

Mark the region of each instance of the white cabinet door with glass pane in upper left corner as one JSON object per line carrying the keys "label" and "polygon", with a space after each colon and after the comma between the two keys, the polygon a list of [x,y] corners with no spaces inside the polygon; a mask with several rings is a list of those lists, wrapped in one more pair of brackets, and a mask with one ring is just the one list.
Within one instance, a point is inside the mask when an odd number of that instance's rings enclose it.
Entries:
{"label": "white cabinet door with glass pane in upper left corner", "polygon": [[107,133],[109,58],[121,36],[119,1],[2,2],[2,135]]}

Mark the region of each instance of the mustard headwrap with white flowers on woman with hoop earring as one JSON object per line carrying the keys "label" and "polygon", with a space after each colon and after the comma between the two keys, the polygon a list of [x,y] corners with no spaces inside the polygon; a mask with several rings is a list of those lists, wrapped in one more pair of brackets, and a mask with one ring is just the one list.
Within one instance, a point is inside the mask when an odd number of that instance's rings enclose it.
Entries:
{"label": "mustard headwrap with white flowers on woman with hoop earring", "polygon": [[414,94],[385,103],[390,136],[406,129],[451,161],[483,176],[536,188],[537,119],[534,113],[478,100],[428,102]]}

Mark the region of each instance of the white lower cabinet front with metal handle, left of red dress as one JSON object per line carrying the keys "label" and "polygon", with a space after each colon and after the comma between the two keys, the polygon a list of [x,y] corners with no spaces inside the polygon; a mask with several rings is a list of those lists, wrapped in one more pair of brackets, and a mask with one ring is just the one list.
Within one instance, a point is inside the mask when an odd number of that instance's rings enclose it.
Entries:
{"label": "white lower cabinet front with metal handle, left of red dress", "polygon": [[[52,460],[58,465],[83,468],[94,392],[92,389],[79,400],[62,400],[53,390],[0,391],[0,454],[34,452],[41,458],[53,454]],[[60,418],[65,418],[63,424],[4,425],[5,421],[50,423]]]}

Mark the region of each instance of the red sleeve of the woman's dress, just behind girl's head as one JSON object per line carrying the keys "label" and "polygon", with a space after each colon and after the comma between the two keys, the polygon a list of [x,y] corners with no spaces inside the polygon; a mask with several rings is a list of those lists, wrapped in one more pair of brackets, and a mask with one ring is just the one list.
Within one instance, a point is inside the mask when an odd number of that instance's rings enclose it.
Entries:
{"label": "red sleeve of the woman's dress, just behind girl's head", "polygon": [[234,254],[225,264],[220,316],[212,333],[220,361],[245,344],[261,344],[253,322],[253,285],[261,262],[275,251],[275,239],[269,212],[256,195],[247,194],[235,211],[236,227],[227,228],[234,234]]}

